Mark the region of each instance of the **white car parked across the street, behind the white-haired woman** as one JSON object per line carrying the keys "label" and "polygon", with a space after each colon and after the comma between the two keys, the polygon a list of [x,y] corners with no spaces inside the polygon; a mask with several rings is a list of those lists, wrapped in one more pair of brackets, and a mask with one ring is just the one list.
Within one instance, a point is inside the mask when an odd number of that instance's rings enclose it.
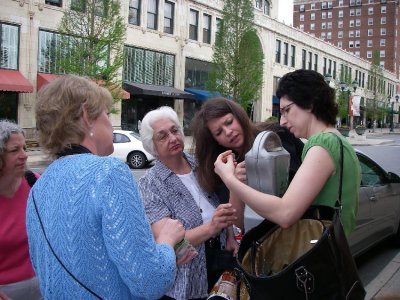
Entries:
{"label": "white car parked across the street, behind the white-haired woman", "polygon": [[143,148],[140,135],[128,130],[114,130],[114,152],[111,156],[128,163],[133,169],[141,169],[154,160],[154,157]]}

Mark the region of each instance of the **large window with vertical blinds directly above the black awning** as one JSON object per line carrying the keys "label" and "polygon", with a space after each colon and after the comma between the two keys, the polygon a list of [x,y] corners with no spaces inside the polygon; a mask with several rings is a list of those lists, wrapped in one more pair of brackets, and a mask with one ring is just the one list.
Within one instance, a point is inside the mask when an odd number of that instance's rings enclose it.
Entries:
{"label": "large window with vertical blinds directly above the black awning", "polygon": [[124,81],[174,86],[174,55],[128,46],[124,50]]}

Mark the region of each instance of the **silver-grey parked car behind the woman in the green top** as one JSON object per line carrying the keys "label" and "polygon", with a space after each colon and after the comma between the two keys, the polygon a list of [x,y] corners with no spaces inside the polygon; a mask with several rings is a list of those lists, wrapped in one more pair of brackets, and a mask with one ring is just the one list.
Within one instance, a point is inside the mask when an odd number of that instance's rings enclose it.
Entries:
{"label": "silver-grey parked car behind the woman in the green top", "polygon": [[[353,256],[389,237],[400,245],[400,177],[386,172],[357,149],[356,154],[361,166],[361,186],[356,228],[349,236]],[[244,218],[246,231],[263,220],[249,207]]]}

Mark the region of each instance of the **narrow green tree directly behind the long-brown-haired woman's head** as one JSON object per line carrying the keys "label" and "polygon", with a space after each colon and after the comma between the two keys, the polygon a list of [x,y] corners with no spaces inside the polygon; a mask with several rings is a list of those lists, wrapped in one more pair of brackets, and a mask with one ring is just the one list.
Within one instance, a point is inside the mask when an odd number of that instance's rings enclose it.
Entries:
{"label": "narrow green tree directly behind the long-brown-haired woman's head", "polygon": [[263,52],[253,24],[251,0],[224,1],[207,87],[249,111],[260,97]]}

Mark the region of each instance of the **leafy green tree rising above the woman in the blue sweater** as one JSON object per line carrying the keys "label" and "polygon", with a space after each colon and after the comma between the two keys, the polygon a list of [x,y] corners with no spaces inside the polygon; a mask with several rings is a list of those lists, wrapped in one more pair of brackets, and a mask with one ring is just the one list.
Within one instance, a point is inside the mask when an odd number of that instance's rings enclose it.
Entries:
{"label": "leafy green tree rising above the woman in the blue sweater", "polygon": [[71,0],[58,26],[62,34],[57,62],[66,74],[90,77],[121,98],[125,24],[118,0]]}

